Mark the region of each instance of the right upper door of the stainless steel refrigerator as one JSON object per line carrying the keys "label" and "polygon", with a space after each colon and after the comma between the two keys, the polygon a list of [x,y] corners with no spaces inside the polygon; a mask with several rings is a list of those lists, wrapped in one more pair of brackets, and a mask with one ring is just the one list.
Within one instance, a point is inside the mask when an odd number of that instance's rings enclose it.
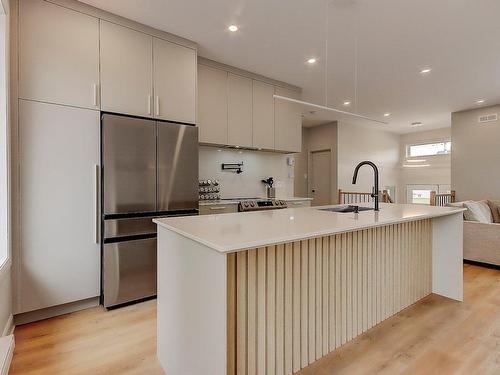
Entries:
{"label": "right upper door of the stainless steel refrigerator", "polygon": [[198,128],[158,122],[158,209],[198,209]]}

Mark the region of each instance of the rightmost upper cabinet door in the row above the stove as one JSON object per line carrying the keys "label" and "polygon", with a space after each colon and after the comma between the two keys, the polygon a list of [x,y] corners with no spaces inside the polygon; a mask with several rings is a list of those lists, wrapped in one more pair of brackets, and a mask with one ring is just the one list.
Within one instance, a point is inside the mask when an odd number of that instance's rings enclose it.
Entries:
{"label": "rightmost upper cabinet door in the row above the stove", "polygon": [[[294,91],[276,87],[276,95],[298,99]],[[300,152],[302,148],[302,117],[293,103],[275,100],[274,103],[275,149],[285,152]]]}

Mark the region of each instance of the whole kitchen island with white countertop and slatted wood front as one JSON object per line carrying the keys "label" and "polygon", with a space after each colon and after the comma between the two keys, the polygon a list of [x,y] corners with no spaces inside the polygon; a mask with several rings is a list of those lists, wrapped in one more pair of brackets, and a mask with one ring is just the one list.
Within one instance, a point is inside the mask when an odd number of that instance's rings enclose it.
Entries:
{"label": "whole kitchen island with white countertop and slatted wood front", "polygon": [[430,293],[461,301],[462,211],[158,219],[167,374],[292,374]]}

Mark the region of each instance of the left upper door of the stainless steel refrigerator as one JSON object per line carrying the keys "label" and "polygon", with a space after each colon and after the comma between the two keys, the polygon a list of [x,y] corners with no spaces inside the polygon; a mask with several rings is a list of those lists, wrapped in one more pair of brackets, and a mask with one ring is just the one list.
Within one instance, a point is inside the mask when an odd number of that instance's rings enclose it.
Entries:
{"label": "left upper door of the stainless steel refrigerator", "polygon": [[156,123],[102,115],[104,213],[156,210]]}

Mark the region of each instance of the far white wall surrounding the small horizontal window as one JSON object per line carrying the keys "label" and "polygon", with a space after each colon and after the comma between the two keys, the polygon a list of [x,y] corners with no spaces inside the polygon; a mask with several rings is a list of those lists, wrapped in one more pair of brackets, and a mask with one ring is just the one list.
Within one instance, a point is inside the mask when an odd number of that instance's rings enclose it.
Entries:
{"label": "far white wall surrounding the small horizontal window", "polygon": [[[411,144],[434,142],[451,139],[451,128],[442,128],[422,132],[402,134],[400,137],[401,166],[406,161],[406,146]],[[452,152],[454,145],[452,144]],[[406,203],[407,185],[450,185],[451,184],[451,157],[450,155],[425,156],[422,164],[430,164],[422,168],[401,168],[400,191],[398,202]]]}

